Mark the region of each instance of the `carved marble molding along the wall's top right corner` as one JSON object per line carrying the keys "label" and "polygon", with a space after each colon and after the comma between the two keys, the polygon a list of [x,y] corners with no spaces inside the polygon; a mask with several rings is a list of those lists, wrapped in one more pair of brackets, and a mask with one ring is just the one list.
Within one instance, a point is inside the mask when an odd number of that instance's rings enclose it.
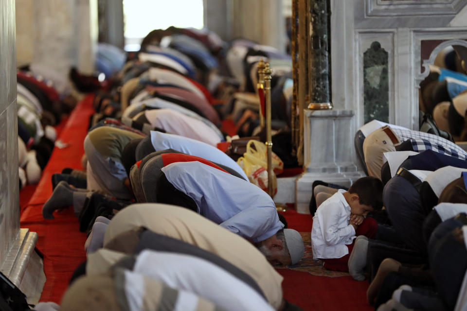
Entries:
{"label": "carved marble molding along the wall's top right corner", "polygon": [[365,0],[367,17],[456,15],[464,0]]}

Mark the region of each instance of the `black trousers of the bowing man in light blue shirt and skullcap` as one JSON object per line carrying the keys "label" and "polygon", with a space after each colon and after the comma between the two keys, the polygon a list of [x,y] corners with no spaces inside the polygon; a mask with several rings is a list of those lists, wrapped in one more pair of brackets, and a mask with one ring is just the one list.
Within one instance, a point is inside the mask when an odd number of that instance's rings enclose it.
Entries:
{"label": "black trousers of the bowing man in light blue shirt and skullcap", "polygon": [[178,205],[198,212],[195,201],[185,193],[177,190],[165,177],[161,175],[156,185],[156,197],[158,203]]}

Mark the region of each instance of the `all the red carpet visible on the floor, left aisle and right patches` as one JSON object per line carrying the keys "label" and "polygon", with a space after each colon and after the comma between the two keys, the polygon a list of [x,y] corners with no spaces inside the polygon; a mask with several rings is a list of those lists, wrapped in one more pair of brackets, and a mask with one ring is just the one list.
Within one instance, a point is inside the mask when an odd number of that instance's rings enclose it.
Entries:
{"label": "all the red carpet visible on the floor, left aisle and right patches", "polygon": [[[54,220],[44,220],[41,209],[52,194],[53,173],[61,172],[64,167],[82,169],[80,160],[84,153],[83,141],[89,116],[93,113],[91,103],[92,96],[88,96],[73,111],[59,136],[63,142],[70,144],[69,147],[55,148],[36,191],[22,211],[21,227],[37,232],[39,240],[36,248],[44,256],[47,281],[40,301],[59,303],[74,269],[86,259],[83,249],[86,235],[79,232],[72,208],[55,212]],[[33,186],[27,186],[21,191],[22,208],[30,192],[34,191]],[[310,215],[298,214],[294,210],[284,212],[283,215],[290,228],[311,231]],[[288,269],[279,269],[278,272],[284,276],[284,297],[304,310],[372,310],[365,298],[367,282],[354,281],[351,277],[312,276]]]}

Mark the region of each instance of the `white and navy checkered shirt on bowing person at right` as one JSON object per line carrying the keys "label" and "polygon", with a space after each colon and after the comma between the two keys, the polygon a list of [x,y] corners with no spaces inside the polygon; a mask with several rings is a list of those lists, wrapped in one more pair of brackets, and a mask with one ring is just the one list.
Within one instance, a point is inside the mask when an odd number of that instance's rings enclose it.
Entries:
{"label": "white and navy checkered shirt on bowing person at right", "polygon": [[391,129],[401,141],[410,139],[413,151],[423,152],[433,150],[434,152],[457,157],[461,160],[467,160],[467,153],[461,147],[449,141],[448,139],[424,132]]}

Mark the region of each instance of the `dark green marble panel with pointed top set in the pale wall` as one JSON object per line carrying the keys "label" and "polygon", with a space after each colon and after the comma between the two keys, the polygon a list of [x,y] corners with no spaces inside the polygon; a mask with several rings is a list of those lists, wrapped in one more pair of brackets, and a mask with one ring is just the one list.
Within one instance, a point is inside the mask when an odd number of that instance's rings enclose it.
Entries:
{"label": "dark green marble panel with pointed top set in the pale wall", "polygon": [[389,56],[374,41],[363,53],[363,114],[365,123],[389,122]]}

